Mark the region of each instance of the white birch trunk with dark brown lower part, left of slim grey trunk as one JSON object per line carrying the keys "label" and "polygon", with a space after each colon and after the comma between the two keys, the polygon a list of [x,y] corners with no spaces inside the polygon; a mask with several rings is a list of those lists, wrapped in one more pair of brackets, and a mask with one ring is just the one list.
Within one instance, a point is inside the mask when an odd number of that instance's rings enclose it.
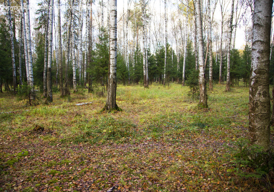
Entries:
{"label": "white birch trunk with dark brown lower part, left of slim grey trunk", "polygon": [[52,62],[52,25],[53,25],[53,1],[50,0],[50,15],[48,29],[48,59],[47,59],[47,101],[52,102],[51,62]]}

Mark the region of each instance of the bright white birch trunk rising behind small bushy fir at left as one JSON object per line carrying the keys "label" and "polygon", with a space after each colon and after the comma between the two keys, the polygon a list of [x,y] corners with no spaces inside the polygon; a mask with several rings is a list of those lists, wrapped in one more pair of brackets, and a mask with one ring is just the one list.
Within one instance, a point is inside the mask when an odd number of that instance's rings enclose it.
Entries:
{"label": "bright white birch trunk rising behind small bushy fir at left", "polygon": [[26,0],[26,38],[28,47],[28,59],[29,59],[29,76],[30,86],[32,87],[32,99],[34,99],[34,84],[33,84],[33,71],[32,71],[32,52],[31,52],[31,39],[30,39],[30,9],[29,0]]}

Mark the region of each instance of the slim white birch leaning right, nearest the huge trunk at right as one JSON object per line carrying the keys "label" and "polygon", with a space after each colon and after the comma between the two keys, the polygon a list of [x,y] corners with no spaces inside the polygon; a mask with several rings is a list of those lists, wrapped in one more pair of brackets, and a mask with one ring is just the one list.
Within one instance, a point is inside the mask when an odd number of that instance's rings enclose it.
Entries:
{"label": "slim white birch leaning right, nearest the huge trunk at right", "polygon": [[231,36],[232,36],[232,27],[233,27],[233,11],[234,11],[234,0],[231,2],[231,13],[230,21],[228,28],[228,42],[227,42],[227,86],[226,91],[230,90],[230,47],[231,47]]}

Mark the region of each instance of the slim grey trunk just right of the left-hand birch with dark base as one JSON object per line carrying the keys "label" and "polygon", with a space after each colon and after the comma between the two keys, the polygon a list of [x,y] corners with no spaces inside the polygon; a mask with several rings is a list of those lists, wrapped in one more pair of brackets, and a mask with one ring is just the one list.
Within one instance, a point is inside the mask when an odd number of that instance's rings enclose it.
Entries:
{"label": "slim grey trunk just right of the left-hand birch with dark base", "polygon": [[[22,1],[22,0],[21,0]],[[60,0],[58,0],[58,7],[60,7]],[[59,62],[59,83],[60,83],[60,92],[61,92],[61,97],[65,96],[64,92],[64,85],[63,85],[63,57],[62,57],[62,36],[61,36],[61,11],[58,9],[58,62]]]}

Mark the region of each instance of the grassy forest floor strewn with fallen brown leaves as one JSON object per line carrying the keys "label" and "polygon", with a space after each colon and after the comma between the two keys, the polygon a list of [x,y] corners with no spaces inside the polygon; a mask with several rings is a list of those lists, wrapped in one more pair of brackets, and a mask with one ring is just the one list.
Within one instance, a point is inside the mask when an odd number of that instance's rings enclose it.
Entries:
{"label": "grassy forest floor strewn with fallen brown leaves", "polygon": [[31,107],[0,93],[0,191],[274,191],[245,158],[248,88],[223,90],[199,109],[187,86],[118,85],[116,113],[86,90]]}

